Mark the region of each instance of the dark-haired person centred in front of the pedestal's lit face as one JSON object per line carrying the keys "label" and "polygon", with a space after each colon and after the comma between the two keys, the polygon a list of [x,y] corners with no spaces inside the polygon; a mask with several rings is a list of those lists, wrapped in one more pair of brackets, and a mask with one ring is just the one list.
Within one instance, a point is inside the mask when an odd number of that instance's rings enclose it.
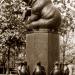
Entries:
{"label": "dark-haired person centred in front of the pedestal's lit face", "polygon": [[33,75],[46,75],[44,66],[41,65],[41,62],[38,62],[34,71]]}

